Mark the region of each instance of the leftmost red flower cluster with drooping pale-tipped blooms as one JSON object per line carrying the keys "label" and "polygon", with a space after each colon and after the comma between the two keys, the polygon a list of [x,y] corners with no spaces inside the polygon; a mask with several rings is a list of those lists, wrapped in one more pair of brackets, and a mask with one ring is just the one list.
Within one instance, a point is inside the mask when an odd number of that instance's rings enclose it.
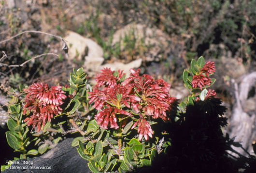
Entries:
{"label": "leftmost red flower cluster with drooping pale-tipped blooms", "polygon": [[54,115],[62,112],[60,105],[63,104],[63,99],[66,99],[67,96],[61,88],[62,86],[52,86],[49,89],[48,84],[37,82],[24,89],[27,95],[23,114],[26,114],[27,111],[32,112],[25,122],[28,122],[28,125],[32,124],[33,128],[37,127],[38,132],[46,121],[50,122]]}

